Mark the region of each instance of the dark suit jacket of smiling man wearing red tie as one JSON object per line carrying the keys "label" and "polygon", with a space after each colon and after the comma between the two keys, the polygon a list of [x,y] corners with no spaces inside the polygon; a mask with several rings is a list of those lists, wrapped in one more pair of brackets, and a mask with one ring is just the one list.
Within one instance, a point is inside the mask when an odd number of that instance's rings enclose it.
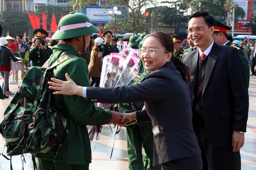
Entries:
{"label": "dark suit jacket of smiling man wearing red tie", "polygon": [[[246,131],[249,97],[243,62],[238,50],[213,43],[208,56],[202,94],[204,123],[213,147],[231,146],[232,133]],[[199,50],[184,57],[190,75],[196,76]],[[196,78],[189,84],[192,107]],[[194,125],[195,127],[195,125]]]}

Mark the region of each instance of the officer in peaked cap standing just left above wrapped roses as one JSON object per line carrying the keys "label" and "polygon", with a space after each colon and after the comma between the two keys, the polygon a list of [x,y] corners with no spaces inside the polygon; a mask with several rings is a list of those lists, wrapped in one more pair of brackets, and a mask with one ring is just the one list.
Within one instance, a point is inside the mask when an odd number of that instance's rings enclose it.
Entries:
{"label": "officer in peaked cap standing just left above wrapped roses", "polygon": [[101,45],[102,50],[99,52],[98,57],[105,57],[106,55],[109,55],[110,53],[113,53],[113,48],[111,47],[111,40],[112,40],[112,32],[106,31],[103,34],[103,37],[105,38],[105,42]]}

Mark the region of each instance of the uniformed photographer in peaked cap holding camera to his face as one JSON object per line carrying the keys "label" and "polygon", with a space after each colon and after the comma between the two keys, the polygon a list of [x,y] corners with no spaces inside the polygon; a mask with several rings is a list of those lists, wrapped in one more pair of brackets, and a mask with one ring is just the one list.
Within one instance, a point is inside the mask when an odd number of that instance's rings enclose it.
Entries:
{"label": "uniformed photographer in peaked cap holding camera to his face", "polygon": [[32,61],[32,66],[42,67],[52,55],[52,49],[48,48],[45,41],[48,33],[44,29],[38,28],[33,31],[33,36],[36,42],[35,46],[29,51],[29,60]]}

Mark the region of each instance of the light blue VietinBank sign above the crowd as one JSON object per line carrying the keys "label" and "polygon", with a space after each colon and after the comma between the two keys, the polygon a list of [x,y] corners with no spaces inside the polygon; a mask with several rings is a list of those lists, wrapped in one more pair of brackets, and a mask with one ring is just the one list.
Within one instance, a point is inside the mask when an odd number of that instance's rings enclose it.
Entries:
{"label": "light blue VietinBank sign above the crowd", "polygon": [[111,9],[86,8],[86,15],[92,21],[112,21],[113,17],[108,15],[109,10]]}

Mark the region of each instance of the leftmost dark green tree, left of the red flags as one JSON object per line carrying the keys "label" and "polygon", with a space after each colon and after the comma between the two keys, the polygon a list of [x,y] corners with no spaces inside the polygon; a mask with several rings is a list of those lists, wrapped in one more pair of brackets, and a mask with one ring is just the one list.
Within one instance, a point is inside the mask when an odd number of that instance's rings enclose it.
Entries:
{"label": "leftmost dark green tree, left of the red flags", "polygon": [[31,27],[27,12],[15,10],[2,11],[0,13],[0,23],[4,32],[8,32],[9,29],[11,37],[15,37],[17,34],[23,35]]}

